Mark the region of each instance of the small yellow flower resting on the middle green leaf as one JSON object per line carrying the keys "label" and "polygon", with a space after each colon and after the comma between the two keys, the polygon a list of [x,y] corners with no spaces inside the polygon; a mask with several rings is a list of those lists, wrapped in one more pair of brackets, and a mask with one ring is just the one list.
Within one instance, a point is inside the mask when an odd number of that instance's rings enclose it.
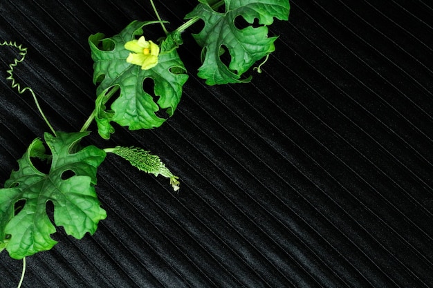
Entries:
{"label": "small yellow flower resting on the middle green leaf", "polygon": [[144,36],[125,43],[125,49],[129,53],[127,62],[141,66],[143,70],[153,68],[158,64],[159,47],[152,41],[147,41]]}

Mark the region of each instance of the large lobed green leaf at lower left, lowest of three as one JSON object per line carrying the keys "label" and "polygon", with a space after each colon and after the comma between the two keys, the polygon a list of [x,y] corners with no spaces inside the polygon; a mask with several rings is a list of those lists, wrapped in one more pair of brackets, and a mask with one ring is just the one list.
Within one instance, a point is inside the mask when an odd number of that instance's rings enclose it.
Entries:
{"label": "large lobed green leaf at lower left, lowest of three", "polygon": [[[48,201],[54,205],[54,221],[68,235],[82,238],[93,234],[98,222],[107,217],[95,193],[96,169],[106,153],[95,146],[81,148],[83,133],[44,134],[52,155],[36,139],[18,160],[5,188],[0,189],[0,241],[10,257],[20,259],[51,249],[57,242],[50,234],[56,229],[46,213]],[[34,162],[50,160],[49,172]],[[17,203],[24,202],[17,209]],[[18,211],[15,211],[15,210]]]}

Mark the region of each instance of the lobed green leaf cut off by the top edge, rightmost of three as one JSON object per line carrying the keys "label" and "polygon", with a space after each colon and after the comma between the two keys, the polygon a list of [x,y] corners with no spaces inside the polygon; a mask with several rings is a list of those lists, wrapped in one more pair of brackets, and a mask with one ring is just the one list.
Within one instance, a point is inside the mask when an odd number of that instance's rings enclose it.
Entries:
{"label": "lobed green leaf cut off by the top edge, rightmost of three", "polygon": [[[199,17],[205,26],[194,38],[203,47],[203,65],[199,68],[199,77],[206,79],[206,84],[228,84],[250,81],[241,79],[256,61],[275,50],[277,37],[268,38],[268,28],[274,17],[287,20],[290,5],[288,0],[225,0],[225,12],[213,10],[208,1],[190,12],[185,19]],[[248,23],[259,21],[259,27],[248,26],[238,29],[234,21],[243,17]],[[230,53],[230,64],[226,66],[221,56]]]}

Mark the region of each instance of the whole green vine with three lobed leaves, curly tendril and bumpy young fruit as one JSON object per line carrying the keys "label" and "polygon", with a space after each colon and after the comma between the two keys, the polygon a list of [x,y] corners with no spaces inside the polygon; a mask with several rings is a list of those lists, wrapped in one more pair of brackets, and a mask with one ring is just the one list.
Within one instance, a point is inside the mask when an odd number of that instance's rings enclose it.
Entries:
{"label": "whole green vine with three lobed leaves, curly tendril and bumpy young fruit", "polygon": [[[174,114],[188,79],[177,52],[183,44],[181,33],[187,27],[204,21],[203,30],[194,38],[203,48],[198,75],[206,84],[246,82],[251,77],[243,74],[275,50],[277,37],[268,37],[267,26],[275,18],[287,20],[290,9],[288,0],[199,2],[185,16],[186,23],[160,40],[158,64],[147,70],[126,61],[129,51],[125,44],[140,37],[144,28],[163,25],[162,21],[132,21],[113,37],[102,33],[89,37],[93,82],[97,85],[95,110],[89,119],[94,117],[102,138],[109,139],[115,132],[112,122],[130,130],[156,128]],[[248,23],[245,28],[237,27],[238,17]],[[257,27],[253,26],[255,19]],[[12,66],[24,60],[25,53],[20,55],[23,58]],[[223,57],[230,61],[223,61]],[[8,79],[15,83],[12,66]],[[145,86],[147,79],[153,81],[153,91]],[[30,88],[26,89],[33,94]],[[167,117],[161,117],[161,111]],[[135,147],[82,147],[80,140],[89,134],[88,124],[89,120],[77,133],[56,132],[50,126],[53,133],[44,135],[49,151],[38,138],[18,160],[19,169],[12,171],[5,188],[0,189],[0,251],[6,248],[12,258],[19,259],[51,249],[56,243],[51,238],[56,231],[54,224],[63,226],[75,238],[94,233],[98,222],[107,216],[95,193],[97,169],[107,153],[119,155],[147,173],[168,177],[174,190],[178,190],[178,177],[149,151]],[[38,169],[37,162],[45,163],[48,172]],[[53,203],[54,224],[46,213],[47,202]]]}

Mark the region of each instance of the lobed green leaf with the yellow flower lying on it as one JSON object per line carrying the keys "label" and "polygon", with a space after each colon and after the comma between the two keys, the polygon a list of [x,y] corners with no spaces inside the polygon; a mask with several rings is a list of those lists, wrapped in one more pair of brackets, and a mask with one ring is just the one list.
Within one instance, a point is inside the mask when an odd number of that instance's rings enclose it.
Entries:
{"label": "lobed green leaf with the yellow flower lying on it", "polygon": [[[188,76],[176,51],[178,44],[181,44],[180,35],[169,35],[162,41],[158,64],[154,68],[142,70],[140,66],[126,61],[130,51],[125,49],[125,43],[142,35],[142,27],[153,23],[159,22],[133,21],[111,38],[104,38],[101,33],[89,37],[95,61],[93,82],[100,82],[96,90],[95,120],[100,135],[105,139],[114,131],[110,122],[129,126],[131,130],[160,126],[166,119],[159,117],[157,112],[163,110],[171,117],[181,100],[182,86]],[[143,88],[147,78],[154,81],[156,97]],[[116,87],[120,88],[120,95],[107,108],[109,97],[113,96],[112,89]]]}

